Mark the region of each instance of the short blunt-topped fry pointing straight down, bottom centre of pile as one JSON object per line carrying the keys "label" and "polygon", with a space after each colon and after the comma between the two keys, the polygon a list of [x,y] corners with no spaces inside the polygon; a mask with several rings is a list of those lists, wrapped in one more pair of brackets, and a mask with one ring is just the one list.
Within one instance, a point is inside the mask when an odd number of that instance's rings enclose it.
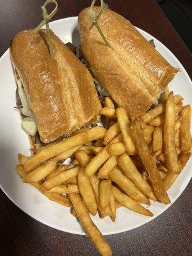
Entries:
{"label": "short blunt-topped fry pointing straight down, bottom centre of pile", "polygon": [[106,211],[109,205],[110,193],[111,193],[111,180],[102,180],[99,184],[99,202],[103,211]]}

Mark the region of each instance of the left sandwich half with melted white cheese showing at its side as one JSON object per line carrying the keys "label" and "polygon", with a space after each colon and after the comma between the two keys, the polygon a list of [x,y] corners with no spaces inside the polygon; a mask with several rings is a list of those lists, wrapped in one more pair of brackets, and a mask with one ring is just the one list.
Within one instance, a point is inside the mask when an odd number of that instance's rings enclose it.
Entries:
{"label": "left sandwich half with melted white cheese showing at its side", "polygon": [[52,31],[51,40],[53,59],[44,29],[21,31],[10,47],[22,113],[44,143],[97,122],[102,108],[90,72]]}

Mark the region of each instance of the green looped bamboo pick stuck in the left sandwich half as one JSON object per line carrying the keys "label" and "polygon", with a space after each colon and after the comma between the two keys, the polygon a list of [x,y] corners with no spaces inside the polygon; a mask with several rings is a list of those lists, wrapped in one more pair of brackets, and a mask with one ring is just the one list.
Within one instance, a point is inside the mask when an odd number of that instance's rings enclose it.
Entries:
{"label": "green looped bamboo pick stuck in the left sandwich half", "polygon": [[[50,14],[47,13],[47,10],[45,8],[49,3],[54,3],[56,5],[54,10]],[[42,6],[42,13],[43,13],[44,20],[33,30],[33,33],[37,33],[38,31],[40,31],[40,29],[44,25],[46,26],[47,43],[49,45],[49,52],[52,59],[53,59],[53,51],[52,51],[51,33],[49,29],[49,20],[52,19],[52,17],[55,15],[57,11],[58,11],[58,3],[55,0],[47,0]]]}

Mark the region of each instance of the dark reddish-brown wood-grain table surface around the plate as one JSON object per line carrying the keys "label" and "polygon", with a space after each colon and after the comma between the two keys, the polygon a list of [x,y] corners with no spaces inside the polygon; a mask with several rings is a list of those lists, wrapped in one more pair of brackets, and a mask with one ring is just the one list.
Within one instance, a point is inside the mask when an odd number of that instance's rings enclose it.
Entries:
{"label": "dark reddish-brown wood-grain table surface around the plate", "polygon": [[[155,1],[106,1],[112,10],[163,42],[192,77],[191,54]],[[0,0],[0,56],[17,32],[40,23],[42,4],[44,0]],[[78,15],[90,0],[58,0],[58,4],[54,19]],[[114,255],[192,255],[191,184],[170,209],[147,225],[107,236]],[[33,220],[0,191],[0,255],[93,256],[97,252],[85,236],[60,232]]]}

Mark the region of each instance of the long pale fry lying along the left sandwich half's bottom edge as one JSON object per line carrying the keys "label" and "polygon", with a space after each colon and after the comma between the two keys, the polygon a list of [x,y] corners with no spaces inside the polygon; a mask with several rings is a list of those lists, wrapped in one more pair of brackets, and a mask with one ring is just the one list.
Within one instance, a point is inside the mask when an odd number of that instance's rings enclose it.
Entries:
{"label": "long pale fry lying along the left sandwich half's bottom edge", "polygon": [[80,132],[66,140],[52,143],[45,147],[40,148],[35,156],[31,157],[25,164],[24,169],[26,172],[30,172],[36,166],[50,159],[51,157],[57,156],[67,150],[74,147],[83,145],[84,143],[92,140],[98,140],[104,137],[106,129],[103,127],[93,127],[85,132]]}

